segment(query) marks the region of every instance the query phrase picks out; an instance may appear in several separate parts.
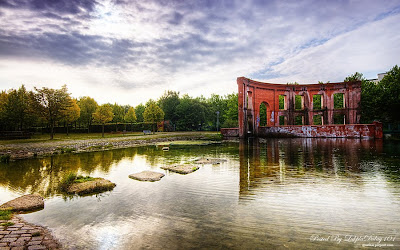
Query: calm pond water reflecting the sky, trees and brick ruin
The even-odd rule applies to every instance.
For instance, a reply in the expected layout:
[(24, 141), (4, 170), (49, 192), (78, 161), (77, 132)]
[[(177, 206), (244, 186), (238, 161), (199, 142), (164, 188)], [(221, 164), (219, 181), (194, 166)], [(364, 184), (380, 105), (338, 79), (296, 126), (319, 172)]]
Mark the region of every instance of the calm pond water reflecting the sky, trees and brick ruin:
[[(0, 203), (40, 193), (25, 214), (72, 249), (400, 248), (400, 144), (270, 139), (58, 155), (0, 165)], [(160, 167), (223, 158), (188, 175)], [(142, 170), (159, 182), (128, 178)], [(65, 197), (67, 172), (104, 177), (113, 191)]]

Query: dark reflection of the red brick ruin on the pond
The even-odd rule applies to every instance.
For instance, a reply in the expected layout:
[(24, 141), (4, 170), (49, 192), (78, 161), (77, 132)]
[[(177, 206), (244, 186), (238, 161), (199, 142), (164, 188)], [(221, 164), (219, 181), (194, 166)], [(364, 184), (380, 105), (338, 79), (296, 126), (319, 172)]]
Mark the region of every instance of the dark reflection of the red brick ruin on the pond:
[[(307, 179), (315, 175), (324, 178), (349, 176), (351, 181), (357, 182), (362, 172), (384, 171), (393, 166), (386, 163), (382, 154), (382, 140), (242, 140), (239, 143), (240, 195), (251, 194), (260, 184), (283, 184), (287, 178), (293, 181), (292, 178)], [(389, 177), (398, 179), (394, 173), (386, 172)]]

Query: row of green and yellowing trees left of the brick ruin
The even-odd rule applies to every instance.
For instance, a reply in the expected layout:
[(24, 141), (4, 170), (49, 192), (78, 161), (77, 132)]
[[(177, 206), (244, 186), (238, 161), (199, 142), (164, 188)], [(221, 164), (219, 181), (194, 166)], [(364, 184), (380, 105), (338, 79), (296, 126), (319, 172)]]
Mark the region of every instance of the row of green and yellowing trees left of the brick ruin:
[[(61, 89), (34, 88), (28, 91), (22, 85), (0, 93), (0, 131), (32, 130), (48, 128), (53, 138), (55, 127), (65, 127), (66, 133), (73, 126), (91, 132), (94, 125), (121, 124), (128, 128), (143, 128), (146, 123), (156, 129), (157, 122), (165, 122), (169, 131), (216, 130), (217, 127), (236, 127), (238, 120), (238, 96), (211, 95), (210, 98), (166, 91), (158, 100), (149, 100), (136, 107), (130, 105), (99, 105), (93, 98), (72, 98), (67, 87)], [(218, 123), (218, 124), (217, 124)]]

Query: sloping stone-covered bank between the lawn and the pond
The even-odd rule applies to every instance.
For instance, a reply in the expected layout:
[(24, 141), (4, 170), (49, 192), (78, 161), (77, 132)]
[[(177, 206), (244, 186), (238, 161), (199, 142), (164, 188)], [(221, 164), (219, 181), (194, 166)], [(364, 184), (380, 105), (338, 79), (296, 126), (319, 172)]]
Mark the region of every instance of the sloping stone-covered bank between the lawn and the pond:
[(119, 148), (154, 145), (160, 142), (178, 140), (209, 140), (212, 133), (178, 133), (171, 132), (162, 135), (116, 137), (87, 140), (46, 141), (32, 143), (0, 144), (0, 155), (9, 155), (11, 160), (46, 157), (62, 153), (84, 153)]

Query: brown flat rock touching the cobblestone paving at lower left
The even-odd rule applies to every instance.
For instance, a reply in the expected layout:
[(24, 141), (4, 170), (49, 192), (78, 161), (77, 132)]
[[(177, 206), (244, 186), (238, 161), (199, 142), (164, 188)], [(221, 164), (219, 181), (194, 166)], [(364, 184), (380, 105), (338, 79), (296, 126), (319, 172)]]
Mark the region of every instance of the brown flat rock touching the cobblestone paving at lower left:
[(33, 211), (44, 208), (44, 199), (38, 194), (28, 194), (4, 203), (0, 209), (13, 211)]

